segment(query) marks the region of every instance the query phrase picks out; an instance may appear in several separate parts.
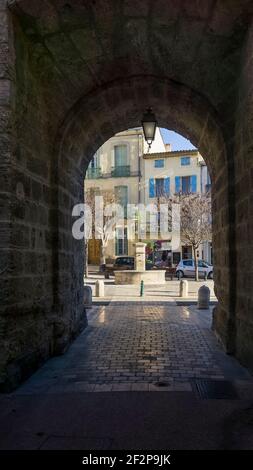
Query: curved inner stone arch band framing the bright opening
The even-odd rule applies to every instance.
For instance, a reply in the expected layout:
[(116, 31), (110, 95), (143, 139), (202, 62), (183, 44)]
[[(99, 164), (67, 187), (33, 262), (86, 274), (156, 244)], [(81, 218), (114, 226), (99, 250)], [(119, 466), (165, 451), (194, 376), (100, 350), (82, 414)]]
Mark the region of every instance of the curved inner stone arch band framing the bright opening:
[[(116, 133), (138, 127), (147, 103), (155, 110), (160, 128), (169, 128), (184, 135), (202, 155), (205, 155), (212, 179), (212, 245), (215, 294), (219, 301), (215, 309), (214, 325), (225, 347), (232, 349), (233, 328), (229, 334), (227, 331), (231, 319), (229, 264), (231, 227), (222, 222), (222, 217), (228, 217), (229, 212), (227, 157), (222, 127), (210, 103), (203, 97), (182, 85), (152, 76), (146, 77), (145, 87), (142, 77), (134, 77), (132, 80), (110, 83), (107, 87), (79, 101), (59, 130), (58, 211), (67, 215), (66, 208), (61, 202), (66, 192), (72, 207), (83, 201), (83, 176), (94, 154)], [(62, 217), (58, 222), (58, 236), (61, 232), (64, 233), (64, 237), (68, 239), (69, 250), (74, 256), (71, 269), (68, 267), (66, 270), (62, 263), (60, 247), (57, 251), (59, 272), (64, 279), (66, 277), (69, 279), (71, 286), (66, 292), (59, 279), (57, 301), (64, 315), (69, 317), (71, 311), (69, 328), (75, 330), (75, 325), (79, 325), (80, 317), (83, 315), (83, 246), (72, 238), (71, 218)]]

